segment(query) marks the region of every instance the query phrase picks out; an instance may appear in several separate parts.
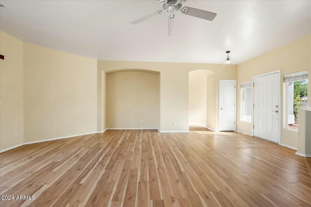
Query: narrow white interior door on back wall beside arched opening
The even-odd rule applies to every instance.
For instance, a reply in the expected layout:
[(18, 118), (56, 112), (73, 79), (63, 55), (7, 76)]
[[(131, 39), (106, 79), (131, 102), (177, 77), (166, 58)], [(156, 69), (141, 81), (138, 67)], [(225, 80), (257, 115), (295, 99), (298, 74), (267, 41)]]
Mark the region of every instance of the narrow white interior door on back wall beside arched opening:
[(236, 80), (219, 80), (219, 131), (235, 131)]

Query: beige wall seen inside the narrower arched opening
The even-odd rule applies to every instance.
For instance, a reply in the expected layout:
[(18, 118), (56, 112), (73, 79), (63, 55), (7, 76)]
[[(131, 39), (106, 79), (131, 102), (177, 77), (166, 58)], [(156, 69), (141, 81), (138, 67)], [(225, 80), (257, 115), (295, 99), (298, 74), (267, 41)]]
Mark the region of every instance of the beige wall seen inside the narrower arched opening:
[(207, 122), (207, 70), (195, 70), (189, 73), (189, 123)]

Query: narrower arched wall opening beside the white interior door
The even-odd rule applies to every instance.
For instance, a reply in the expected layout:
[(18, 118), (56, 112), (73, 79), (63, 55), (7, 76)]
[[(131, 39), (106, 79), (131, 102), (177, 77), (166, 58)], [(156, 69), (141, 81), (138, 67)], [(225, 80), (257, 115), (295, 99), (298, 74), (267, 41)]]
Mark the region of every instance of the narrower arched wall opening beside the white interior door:
[[(194, 70), (189, 73), (189, 125), (207, 127), (207, 118), (212, 99), (215, 100), (215, 87), (210, 87), (208, 77), (214, 72), (208, 70)], [(210, 80), (209, 80), (210, 81)], [(208, 87), (209, 85), (209, 87)], [(208, 96), (208, 100), (207, 100)]]

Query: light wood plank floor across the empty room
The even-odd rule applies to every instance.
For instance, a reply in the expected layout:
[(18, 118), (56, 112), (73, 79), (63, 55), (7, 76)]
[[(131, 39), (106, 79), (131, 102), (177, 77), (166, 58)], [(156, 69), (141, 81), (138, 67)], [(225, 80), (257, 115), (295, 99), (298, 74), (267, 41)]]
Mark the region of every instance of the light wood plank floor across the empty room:
[[(1, 207), (311, 207), (295, 151), (236, 132), (107, 130), (0, 154)], [(306, 159), (307, 160), (307, 159)]]

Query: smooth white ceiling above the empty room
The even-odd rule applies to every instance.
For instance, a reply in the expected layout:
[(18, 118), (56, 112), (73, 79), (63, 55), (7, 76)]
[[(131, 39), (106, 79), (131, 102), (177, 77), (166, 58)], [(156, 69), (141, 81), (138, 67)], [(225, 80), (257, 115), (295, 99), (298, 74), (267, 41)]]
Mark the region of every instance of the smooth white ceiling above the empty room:
[(161, 10), (157, 0), (0, 0), (0, 30), (25, 42), (98, 60), (235, 64), (311, 33), (311, 1), (188, 0), (183, 6), (217, 13), (207, 21), (176, 12), (137, 25)]

